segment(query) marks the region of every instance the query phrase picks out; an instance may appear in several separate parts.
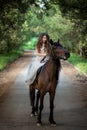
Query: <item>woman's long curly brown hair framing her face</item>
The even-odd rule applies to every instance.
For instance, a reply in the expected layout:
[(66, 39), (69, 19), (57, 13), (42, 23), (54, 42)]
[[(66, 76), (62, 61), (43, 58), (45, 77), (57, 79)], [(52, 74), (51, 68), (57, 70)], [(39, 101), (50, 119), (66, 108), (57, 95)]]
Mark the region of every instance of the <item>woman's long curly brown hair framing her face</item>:
[(51, 45), (50, 45), (50, 37), (47, 33), (40, 34), (40, 36), (38, 38), (37, 45), (36, 45), (37, 51), (38, 51), (38, 53), (40, 53), (40, 49), (41, 49), (42, 44), (43, 44), (43, 36), (46, 36), (46, 38), (47, 38), (47, 41), (45, 42), (45, 51), (46, 51), (46, 53), (49, 53)]

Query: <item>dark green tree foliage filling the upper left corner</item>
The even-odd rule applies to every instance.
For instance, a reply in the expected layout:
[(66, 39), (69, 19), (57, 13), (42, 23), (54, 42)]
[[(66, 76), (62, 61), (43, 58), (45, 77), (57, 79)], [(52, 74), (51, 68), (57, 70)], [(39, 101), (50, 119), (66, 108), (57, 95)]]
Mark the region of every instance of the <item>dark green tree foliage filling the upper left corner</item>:
[(0, 54), (18, 49), (27, 39), (25, 14), (30, 1), (0, 0)]

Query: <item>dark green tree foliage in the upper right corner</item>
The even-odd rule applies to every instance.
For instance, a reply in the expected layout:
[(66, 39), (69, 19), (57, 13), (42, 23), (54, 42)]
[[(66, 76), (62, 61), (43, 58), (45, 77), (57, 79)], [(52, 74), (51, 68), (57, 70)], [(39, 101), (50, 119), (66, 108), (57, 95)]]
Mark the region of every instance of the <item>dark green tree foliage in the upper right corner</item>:
[(73, 34), (76, 35), (74, 39), (78, 44), (77, 52), (87, 58), (87, 1), (59, 0), (58, 4), (62, 15), (74, 23)]

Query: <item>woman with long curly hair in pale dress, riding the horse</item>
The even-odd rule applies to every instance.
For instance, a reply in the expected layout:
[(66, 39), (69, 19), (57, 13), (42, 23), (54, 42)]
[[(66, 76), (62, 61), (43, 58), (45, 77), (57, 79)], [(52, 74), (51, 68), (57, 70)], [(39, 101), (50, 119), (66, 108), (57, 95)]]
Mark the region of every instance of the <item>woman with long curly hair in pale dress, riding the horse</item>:
[(44, 56), (46, 56), (47, 54), (50, 53), (51, 45), (50, 45), (49, 40), (50, 40), (49, 35), (46, 33), (42, 33), (39, 36), (39, 39), (38, 39), (38, 42), (36, 45), (36, 51), (35, 51), (36, 58), (35, 58), (35, 61), (33, 61), (30, 64), (29, 70), (28, 70), (28, 76), (27, 76), (27, 80), (26, 80), (28, 85), (33, 83), (33, 81), (36, 78), (38, 68), (43, 66), (46, 62), (45, 61), (45, 62), (41, 63), (40, 61), (43, 59)]

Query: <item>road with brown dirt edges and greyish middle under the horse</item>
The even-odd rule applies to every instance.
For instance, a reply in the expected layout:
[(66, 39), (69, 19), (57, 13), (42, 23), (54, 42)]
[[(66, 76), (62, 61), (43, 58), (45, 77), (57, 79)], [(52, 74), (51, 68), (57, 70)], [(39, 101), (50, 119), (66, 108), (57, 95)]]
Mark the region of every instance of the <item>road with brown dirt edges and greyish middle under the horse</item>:
[(4, 77), (2, 75), (1, 78), (8, 78), (7, 85), (4, 84), (2, 89), (3, 96), (0, 97), (0, 130), (87, 130), (87, 82), (79, 77), (78, 71), (68, 62), (62, 62), (56, 90), (54, 118), (57, 126), (51, 127), (48, 122), (48, 94), (44, 100), (43, 126), (36, 126), (36, 117), (30, 117), (29, 88), (25, 83), (31, 58), (31, 52), (24, 54), (2, 72)]

